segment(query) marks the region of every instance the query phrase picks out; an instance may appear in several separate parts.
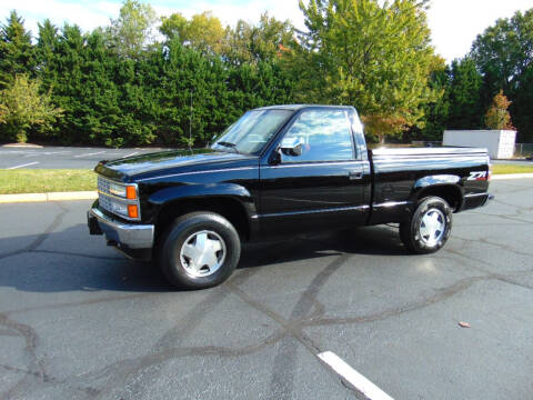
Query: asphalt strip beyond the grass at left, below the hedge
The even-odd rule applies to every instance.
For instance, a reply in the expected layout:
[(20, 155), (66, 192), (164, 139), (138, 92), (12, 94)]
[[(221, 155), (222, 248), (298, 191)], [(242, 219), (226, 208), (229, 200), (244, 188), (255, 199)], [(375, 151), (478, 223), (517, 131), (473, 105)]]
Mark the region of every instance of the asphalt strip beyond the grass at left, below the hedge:
[(94, 168), (100, 160), (113, 160), (121, 157), (145, 154), (164, 149), (109, 149), (44, 147), (17, 148), (0, 147), (0, 169), (77, 169)]

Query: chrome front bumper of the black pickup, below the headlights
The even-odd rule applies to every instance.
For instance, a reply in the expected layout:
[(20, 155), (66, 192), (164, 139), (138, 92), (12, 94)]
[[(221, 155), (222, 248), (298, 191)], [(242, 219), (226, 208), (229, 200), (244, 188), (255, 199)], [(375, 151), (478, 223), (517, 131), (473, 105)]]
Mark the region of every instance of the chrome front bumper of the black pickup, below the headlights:
[(87, 224), (91, 234), (105, 234), (105, 238), (129, 249), (149, 249), (153, 246), (153, 224), (134, 224), (115, 221), (99, 209), (87, 211)]

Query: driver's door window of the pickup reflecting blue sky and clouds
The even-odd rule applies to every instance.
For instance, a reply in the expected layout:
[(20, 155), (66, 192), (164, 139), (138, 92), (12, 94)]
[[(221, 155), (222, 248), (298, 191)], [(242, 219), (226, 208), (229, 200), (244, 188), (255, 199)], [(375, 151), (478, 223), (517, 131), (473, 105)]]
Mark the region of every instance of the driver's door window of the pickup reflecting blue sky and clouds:
[(300, 154), (281, 152), (281, 162), (353, 160), (352, 132), (343, 110), (310, 110), (300, 114), (283, 138), (299, 143)]

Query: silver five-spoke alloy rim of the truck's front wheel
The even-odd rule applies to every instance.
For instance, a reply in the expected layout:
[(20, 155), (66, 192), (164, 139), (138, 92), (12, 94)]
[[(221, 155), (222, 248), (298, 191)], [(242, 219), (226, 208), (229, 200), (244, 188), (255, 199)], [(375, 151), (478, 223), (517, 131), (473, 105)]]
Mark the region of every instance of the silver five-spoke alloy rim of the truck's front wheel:
[(225, 242), (221, 236), (211, 230), (202, 230), (192, 233), (183, 242), (180, 262), (190, 276), (209, 277), (224, 263), (225, 253)]

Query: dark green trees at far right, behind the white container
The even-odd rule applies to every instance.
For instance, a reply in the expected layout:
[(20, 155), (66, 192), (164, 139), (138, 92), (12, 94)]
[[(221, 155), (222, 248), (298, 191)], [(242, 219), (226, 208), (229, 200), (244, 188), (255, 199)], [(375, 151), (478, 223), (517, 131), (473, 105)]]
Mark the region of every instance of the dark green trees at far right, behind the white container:
[(444, 129), (486, 129), (484, 116), (502, 90), (517, 142), (533, 142), (533, 9), (495, 21), (469, 54), (436, 69), (430, 84), (443, 96), (426, 104), (425, 128), (411, 137), (441, 140)]

